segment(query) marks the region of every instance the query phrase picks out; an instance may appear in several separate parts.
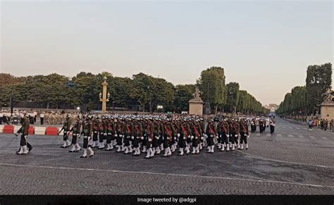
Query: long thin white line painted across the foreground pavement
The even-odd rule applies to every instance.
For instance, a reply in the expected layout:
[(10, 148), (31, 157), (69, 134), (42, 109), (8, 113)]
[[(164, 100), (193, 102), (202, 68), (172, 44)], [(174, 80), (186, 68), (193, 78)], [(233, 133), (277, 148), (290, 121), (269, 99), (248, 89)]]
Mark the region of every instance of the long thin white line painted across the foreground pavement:
[[(242, 151), (240, 151), (242, 152)], [(242, 152), (243, 153), (243, 152)], [(299, 182), (282, 182), (276, 180), (251, 180), (245, 178), (226, 178), (226, 177), (214, 177), (214, 176), (201, 176), (201, 175), (183, 175), (183, 174), (173, 174), (173, 173), (151, 173), (151, 172), (136, 172), (136, 171), (126, 171), (126, 170), (104, 170), (104, 169), (93, 169), (93, 168), (71, 168), (71, 167), (55, 167), (55, 166), (33, 166), (33, 165), (22, 165), (22, 164), (12, 164), (12, 163), (0, 163), (2, 166), (16, 166), (16, 167), (31, 167), (31, 168), (52, 168), (52, 169), (67, 169), (67, 170), (88, 170), (88, 171), (104, 171), (111, 173), (135, 173), (135, 174), (146, 174), (146, 175), (171, 175), (178, 177), (193, 177), (193, 178), (211, 178), (211, 179), (220, 179), (220, 180), (240, 180), (240, 181), (248, 181), (248, 182), (273, 182), (279, 184), (287, 184), (287, 185), (301, 185), (301, 186), (311, 186), (311, 187), (328, 187), (334, 188), (334, 186), (327, 185), (313, 185), (313, 184), (304, 184)]]

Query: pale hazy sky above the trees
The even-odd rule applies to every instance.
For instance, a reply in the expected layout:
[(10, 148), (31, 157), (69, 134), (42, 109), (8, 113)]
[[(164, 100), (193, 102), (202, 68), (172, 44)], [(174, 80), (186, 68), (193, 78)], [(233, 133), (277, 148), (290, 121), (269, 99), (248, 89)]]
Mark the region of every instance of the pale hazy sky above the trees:
[[(333, 63), (333, 1), (1, 1), (0, 73), (146, 73), (194, 84), (221, 66), (262, 104)], [(334, 78), (333, 78), (334, 80)]]

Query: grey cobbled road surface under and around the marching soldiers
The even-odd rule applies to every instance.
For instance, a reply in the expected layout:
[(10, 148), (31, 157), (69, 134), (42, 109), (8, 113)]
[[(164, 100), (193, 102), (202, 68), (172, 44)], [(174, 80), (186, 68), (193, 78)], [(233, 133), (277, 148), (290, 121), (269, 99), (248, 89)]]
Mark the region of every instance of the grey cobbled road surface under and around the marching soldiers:
[(33, 151), (0, 135), (0, 194), (334, 194), (334, 133), (277, 119), (245, 151), (154, 159), (96, 151), (68, 153), (55, 136), (34, 135)]

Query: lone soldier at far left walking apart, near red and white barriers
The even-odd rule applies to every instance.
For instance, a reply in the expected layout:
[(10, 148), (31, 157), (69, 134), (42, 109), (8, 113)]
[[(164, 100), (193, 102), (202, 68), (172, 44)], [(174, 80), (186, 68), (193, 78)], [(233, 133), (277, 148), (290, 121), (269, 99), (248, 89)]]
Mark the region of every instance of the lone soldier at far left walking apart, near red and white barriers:
[(16, 154), (28, 154), (29, 151), (32, 150), (32, 146), (31, 144), (29, 144), (27, 142), (27, 135), (29, 134), (29, 118), (27, 116), (27, 114), (25, 114), (24, 116), (24, 122), (22, 127), (20, 128), (20, 130), (18, 130), (18, 132), (16, 132), (16, 136), (18, 136), (21, 133), (21, 139), (20, 139), (20, 149), (19, 151), (16, 152)]

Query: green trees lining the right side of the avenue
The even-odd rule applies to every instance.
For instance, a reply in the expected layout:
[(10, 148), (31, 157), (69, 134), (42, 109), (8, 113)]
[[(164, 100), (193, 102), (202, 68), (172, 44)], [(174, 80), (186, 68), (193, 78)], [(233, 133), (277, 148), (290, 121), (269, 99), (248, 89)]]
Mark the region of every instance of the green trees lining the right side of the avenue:
[(323, 102), (323, 94), (331, 89), (331, 84), (331, 63), (308, 66), (306, 85), (294, 87), (285, 94), (277, 113), (283, 116), (316, 115)]

